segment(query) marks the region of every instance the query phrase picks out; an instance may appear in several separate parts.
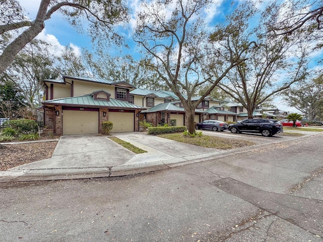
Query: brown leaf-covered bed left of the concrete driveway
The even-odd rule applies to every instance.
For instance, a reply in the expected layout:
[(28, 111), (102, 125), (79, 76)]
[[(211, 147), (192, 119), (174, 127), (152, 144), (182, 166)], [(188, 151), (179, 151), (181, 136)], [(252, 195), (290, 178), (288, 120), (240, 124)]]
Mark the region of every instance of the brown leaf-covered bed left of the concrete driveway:
[(0, 170), (50, 158), (57, 141), (10, 144), (0, 147)]

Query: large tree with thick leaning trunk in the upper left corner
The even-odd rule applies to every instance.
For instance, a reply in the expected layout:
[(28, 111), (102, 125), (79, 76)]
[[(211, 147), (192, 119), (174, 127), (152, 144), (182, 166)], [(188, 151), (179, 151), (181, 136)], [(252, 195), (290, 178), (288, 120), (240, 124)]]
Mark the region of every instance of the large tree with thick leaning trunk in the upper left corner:
[[(20, 50), (34, 39), (45, 27), (46, 20), (60, 12), (72, 25), (82, 27), (87, 20), (87, 32), (92, 40), (100, 34), (102, 39), (120, 40), (120, 36), (113, 27), (127, 20), (128, 9), (123, 0), (41, 0), (37, 16), (34, 20), (24, 17), (24, 13), (17, 0), (0, 0), (0, 44), (12, 37), (12, 31), (20, 34), (4, 47), (0, 55), (0, 73), (3, 73), (13, 62)], [(11, 36), (10, 36), (11, 35)]]

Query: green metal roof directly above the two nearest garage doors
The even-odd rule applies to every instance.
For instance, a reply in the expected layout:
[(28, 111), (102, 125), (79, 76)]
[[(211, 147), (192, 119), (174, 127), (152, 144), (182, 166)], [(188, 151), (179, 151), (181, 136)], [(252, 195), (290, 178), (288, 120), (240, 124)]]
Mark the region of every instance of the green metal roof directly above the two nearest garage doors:
[(80, 96), (80, 97), (67, 97), (60, 99), (47, 100), (42, 102), (44, 105), (55, 104), (63, 106), (91, 106), (91, 107), (119, 107), (128, 109), (145, 109), (144, 107), (110, 98), (109, 101), (94, 100), (91, 94)]

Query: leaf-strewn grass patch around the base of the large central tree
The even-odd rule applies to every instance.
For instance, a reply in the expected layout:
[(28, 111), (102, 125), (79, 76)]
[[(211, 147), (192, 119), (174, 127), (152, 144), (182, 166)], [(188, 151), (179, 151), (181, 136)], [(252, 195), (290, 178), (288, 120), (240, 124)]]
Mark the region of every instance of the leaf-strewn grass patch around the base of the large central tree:
[(235, 140), (235, 139), (228, 139), (228, 138), (221, 138), (215, 136), (207, 136), (203, 135), (202, 137), (190, 137), (184, 136), (182, 133), (176, 134), (163, 134), (158, 135), (158, 137), (175, 140), (178, 142), (196, 145), (205, 148), (214, 148), (219, 150), (230, 150), (250, 145), (255, 145), (256, 143), (247, 141), (247, 140)]

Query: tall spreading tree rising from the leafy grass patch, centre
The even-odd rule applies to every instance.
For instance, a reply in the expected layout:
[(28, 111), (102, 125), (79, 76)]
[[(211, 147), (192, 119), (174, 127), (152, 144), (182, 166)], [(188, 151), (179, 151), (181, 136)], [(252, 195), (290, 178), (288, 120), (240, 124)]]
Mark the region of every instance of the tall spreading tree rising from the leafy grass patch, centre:
[[(243, 52), (252, 45), (244, 43), (239, 51), (231, 48), (252, 6), (238, 8), (242, 18), (226, 25), (227, 31), (218, 31), (217, 39), (209, 38), (211, 32), (202, 19), (205, 9), (214, 8), (211, 0), (148, 1), (141, 7), (134, 39), (143, 48), (149, 67), (181, 100), (188, 131), (194, 133), (195, 108), (243, 61)], [(210, 85), (199, 100), (192, 101), (204, 84)]]

